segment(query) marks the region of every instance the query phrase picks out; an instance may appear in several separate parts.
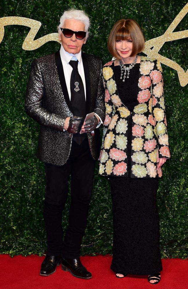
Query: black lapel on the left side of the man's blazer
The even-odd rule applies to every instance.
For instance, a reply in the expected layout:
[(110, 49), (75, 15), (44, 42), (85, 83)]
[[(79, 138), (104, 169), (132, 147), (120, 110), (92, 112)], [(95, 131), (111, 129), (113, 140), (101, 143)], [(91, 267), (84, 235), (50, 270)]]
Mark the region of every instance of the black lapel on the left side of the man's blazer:
[(68, 90), (67, 90), (66, 81), (65, 81), (65, 78), (64, 78), (64, 71), (63, 71), (63, 65), (62, 65), (62, 61), (61, 61), (60, 51), (57, 51), (55, 53), (55, 60), (56, 60), (56, 66), (57, 66), (59, 81), (60, 81), (60, 84), (61, 84), (61, 89), (62, 89), (62, 92), (63, 92), (64, 99), (65, 99), (70, 111), (73, 114), (73, 109), (72, 109), (71, 102), (70, 102), (70, 99), (69, 99), (69, 94), (68, 94)]

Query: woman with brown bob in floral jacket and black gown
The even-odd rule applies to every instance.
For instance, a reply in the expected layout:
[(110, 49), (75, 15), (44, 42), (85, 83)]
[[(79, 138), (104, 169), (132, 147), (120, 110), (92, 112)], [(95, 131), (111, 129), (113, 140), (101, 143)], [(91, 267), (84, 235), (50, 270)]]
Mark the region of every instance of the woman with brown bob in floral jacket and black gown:
[(103, 67), (106, 118), (99, 174), (110, 181), (113, 203), (113, 260), (117, 278), (162, 270), (156, 206), (161, 166), (170, 158), (160, 62), (139, 56), (145, 45), (138, 23), (121, 19)]

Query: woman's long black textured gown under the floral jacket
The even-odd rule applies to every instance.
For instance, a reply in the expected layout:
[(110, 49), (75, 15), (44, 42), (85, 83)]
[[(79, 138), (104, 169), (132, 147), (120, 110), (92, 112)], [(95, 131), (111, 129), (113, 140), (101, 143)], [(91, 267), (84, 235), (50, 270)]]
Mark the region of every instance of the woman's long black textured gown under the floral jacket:
[[(129, 64), (128, 64), (129, 66)], [(137, 105), (140, 64), (120, 79), (120, 66), (113, 66), (118, 94), (132, 112)], [(150, 275), (162, 270), (159, 220), (156, 206), (158, 179), (131, 178), (132, 114), (128, 120), (128, 177), (110, 177), (113, 203), (113, 260), (116, 273)]]

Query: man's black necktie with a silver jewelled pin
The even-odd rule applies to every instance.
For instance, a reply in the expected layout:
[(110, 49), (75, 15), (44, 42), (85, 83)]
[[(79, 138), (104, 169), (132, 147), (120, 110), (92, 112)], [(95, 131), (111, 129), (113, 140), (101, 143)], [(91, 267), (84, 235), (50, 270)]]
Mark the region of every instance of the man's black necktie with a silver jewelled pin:
[[(82, 123), (84, 123), (84, 118), (86, 116), (86, 100), (84, 93), (84, 85), (82, 78), (78, 72), (78, 60), (71, 60), (69, 64), (72, 66), (73, 70), (71, 73), (70, 88), (71, 88), (71, 106), (75, 116), (82, 116)], [(79, 130), (80, 132), (80, 130)], [(78, 144), (81, 144), (86, 137), (86, 134), (73, 134), (73, 140)]]

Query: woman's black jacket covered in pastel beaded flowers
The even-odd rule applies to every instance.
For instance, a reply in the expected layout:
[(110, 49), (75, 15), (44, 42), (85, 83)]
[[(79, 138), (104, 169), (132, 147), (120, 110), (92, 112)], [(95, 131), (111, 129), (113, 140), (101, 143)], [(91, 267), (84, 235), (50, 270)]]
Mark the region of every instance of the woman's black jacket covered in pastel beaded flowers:
[(131, 177), (161, 177), (159, 158), (170, 158), (160, 62), (141, 56), (139, 93), (133, 112), (121, 102), (112, 69), (114, 61), (103, 67), (106, 118), (100, 153), (99, 174), (127, 176), (127, 126), (132, 113)]

